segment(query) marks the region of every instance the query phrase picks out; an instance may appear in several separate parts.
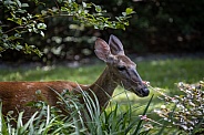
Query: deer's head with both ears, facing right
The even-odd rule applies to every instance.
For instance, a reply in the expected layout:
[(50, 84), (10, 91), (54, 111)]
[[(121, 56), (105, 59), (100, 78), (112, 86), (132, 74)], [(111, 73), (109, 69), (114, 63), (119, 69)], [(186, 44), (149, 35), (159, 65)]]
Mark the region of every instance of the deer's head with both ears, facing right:
[(149, 95), (149, 89), (140, 77), (136, 64), (124, 54), (123, 45), (116, 37), (111, 35), (109, 44), (98, 39), (94, 52), (106, 63), (115, 83), (141, 97)]

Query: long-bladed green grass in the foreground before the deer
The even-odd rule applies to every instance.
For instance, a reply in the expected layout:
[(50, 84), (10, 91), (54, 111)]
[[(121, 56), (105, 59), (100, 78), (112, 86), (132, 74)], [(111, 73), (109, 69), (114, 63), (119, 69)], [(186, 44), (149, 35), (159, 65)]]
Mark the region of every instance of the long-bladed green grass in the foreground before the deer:
[[(125, 112), (121, 111), (118, 104), (112, 106), (111, 111), (101, 111), (94, 93), (92, 93), (93, 96), (90, 96), (86, 92), (82, 92), (85, 104), (80, 104), (78, 95), (69, 91), (57, 94), (59, 95), (58, 104), (64, 106), (63, 111), (68, 111), (68, 115), (61, 114), (62, 108), (50, 106), (44, 102), (33, 103), (41, 104), (41, 111), (35, 112), (26, 123), (23, 123), (23, 112), (20, 112), (17, 118), (2, 116), (0, 113), (0, 134), (137, 135), (149, 132), (143, 126), (143, 120), (140, 116), (133, 118), (132, 111), (136, 108), (132, 108), (131, 105)], [(146, 115), (151, 101), (152, 98), (142, 115)], [(0, 111), (2, 111), (2, 102)], [(12, 125), (13, 120), (16, 126)]]

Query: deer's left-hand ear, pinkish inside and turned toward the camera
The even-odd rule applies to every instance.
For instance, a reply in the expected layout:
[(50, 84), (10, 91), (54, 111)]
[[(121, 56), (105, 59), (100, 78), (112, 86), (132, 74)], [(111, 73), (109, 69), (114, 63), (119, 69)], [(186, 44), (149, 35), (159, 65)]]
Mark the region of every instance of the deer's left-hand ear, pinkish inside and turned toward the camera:
[(96, 56), (99, 59), (103, 60), (104, 62), (108, 61), (108, 58), (111, 54), (109, 44), (100, 38), (98, 38), (95, 41), (94, 52), (95, 52)]

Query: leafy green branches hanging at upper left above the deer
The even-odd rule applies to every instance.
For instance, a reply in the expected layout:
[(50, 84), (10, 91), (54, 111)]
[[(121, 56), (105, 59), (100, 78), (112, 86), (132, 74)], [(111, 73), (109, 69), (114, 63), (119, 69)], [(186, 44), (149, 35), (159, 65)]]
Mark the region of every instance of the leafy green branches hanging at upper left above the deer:
[(28, 10), (31, 2), (21, 3), (20, 0), (2, 1), (3, 14), (8, 15), (7, 18), (2, 15), (2, 20), (9, 23), (13, 22), (14, 24), (11, 27), (0, 21), (0, 55), (3, 51), (12, 49), (23, 51), (27, 54), (34, 52), (41, 56), (42, 52), (34, 44), (22, 43), (23, 34), (37, 33), (44, 37), (43, 31), (47, 30), (44, 20), (48, 18), (71, 17), (74, 21), (83, 23), (85, 27), (94, 27), (94, 29), (103, 30), (111, 28), (125, 30), (125, 27), (129, 25), (128, 19), (134, 13), (131, 8), (126, 8), (121, 17), (115, 17), (115, 20), (111, 20), (110, 17), (105, 17), (106, 11), (94, 3), (78, 3), (75, 0), (55, 0), (54, 7), (48, 7), (40, 0), (32, 0), (32, 2), (34, 2), (37, 9), (39, 7), (43, 7), (43, 9), (31, 13)]

